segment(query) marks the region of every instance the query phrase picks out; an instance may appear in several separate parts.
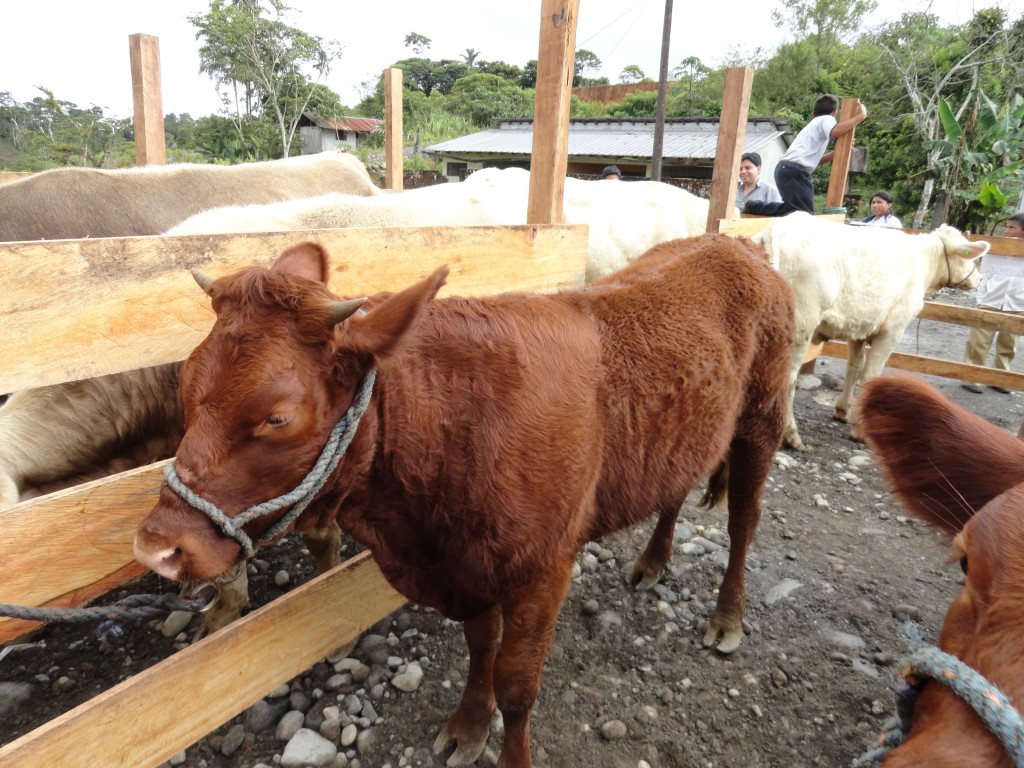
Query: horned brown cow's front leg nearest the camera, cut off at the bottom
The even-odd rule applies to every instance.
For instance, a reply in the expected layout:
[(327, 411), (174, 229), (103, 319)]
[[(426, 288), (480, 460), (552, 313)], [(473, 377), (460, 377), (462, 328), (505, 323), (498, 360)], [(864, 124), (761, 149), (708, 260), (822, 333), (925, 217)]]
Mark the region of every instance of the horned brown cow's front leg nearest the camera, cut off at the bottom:
[(504, 633), (495, 665), (495, 695), (505, 722), (498, 768), (529, 768), (529, 722), (541, 689), (555, 622), (569, 589), (574, 553), (553, 563), (551, 580), (527, 585), (521, 601), (505, 606)]

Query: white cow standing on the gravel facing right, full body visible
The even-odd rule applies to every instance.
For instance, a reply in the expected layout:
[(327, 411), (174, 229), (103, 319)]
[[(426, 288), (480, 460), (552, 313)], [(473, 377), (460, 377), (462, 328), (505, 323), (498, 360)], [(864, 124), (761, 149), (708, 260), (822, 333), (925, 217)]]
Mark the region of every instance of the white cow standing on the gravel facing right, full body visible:
[(790, 414), (784, 440), (804, 450), (793, 414), (797, 374), (811, 342), (846, 339), (848, 359), (834, 418), (854, 424), (854, 387), (882, 373), (903, 331), (944, 286), (972, 289), (976, 259), (987, 243), (972, 243), (943, 224), (924, 234), (874, 226), (848, 226), (792, 213), (774, 219), (752, 240), (760, 243), (793, 287), (797, 334), (793, 346)]

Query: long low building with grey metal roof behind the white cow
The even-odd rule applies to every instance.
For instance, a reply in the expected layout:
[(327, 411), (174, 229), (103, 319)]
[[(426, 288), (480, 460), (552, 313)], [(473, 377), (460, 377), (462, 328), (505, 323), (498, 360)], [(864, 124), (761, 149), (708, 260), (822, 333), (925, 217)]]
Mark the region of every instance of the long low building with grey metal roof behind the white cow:
[[(662, 142), (662, 180), (706, 197), (711, 188), (718, 118), (669, 118)], [(761, 155), (762, 173), (772, 178), (775, 164), (794, 139), (781, 118), (751, 118), (743, 152)], [(459, 181), (480, 168), (529, 168), (534, 121), (502, 120), (496, 127), (433, 144), (425, 153), (441, 161), (441, 173)], [(654, 146), (653, 118), (586, 118), (569, 121), (568, 175), (599, 178), (617, 165), (624, 179), (649, 178)]]

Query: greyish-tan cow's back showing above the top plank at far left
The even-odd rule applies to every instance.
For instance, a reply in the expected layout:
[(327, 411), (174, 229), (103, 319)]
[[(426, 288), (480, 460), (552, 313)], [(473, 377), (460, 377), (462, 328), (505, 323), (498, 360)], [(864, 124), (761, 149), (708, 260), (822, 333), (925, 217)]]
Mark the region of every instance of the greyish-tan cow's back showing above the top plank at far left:
[(331, 193), (382, 190), (358, 158), (342, 153), (232, 166), (54, 168), (0, 184), (0, 242), (160, 234), (211, 208)]

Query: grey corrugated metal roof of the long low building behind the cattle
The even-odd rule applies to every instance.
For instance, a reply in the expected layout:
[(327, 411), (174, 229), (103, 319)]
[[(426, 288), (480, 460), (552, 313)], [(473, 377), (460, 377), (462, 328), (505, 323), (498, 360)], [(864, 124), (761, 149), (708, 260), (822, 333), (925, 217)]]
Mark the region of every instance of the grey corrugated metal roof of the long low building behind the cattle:
[[(788, 133), (780, 121), (755, 119), (748, 123), (743, 152), (758, 152)], [(714, 159), (718, 144), (718, 121), (666, 121), (662, 157), (667, 159)], [(522, 155), (534, 146), (531, 121), (509, 120), (498, 128), (471, 133), (426, 147), (426, 152), (460, 155)], [(568, 154), (587, 158), (649, 158), (654, 148), (654, 121), (570, 121)]]

